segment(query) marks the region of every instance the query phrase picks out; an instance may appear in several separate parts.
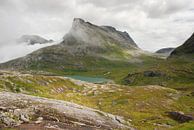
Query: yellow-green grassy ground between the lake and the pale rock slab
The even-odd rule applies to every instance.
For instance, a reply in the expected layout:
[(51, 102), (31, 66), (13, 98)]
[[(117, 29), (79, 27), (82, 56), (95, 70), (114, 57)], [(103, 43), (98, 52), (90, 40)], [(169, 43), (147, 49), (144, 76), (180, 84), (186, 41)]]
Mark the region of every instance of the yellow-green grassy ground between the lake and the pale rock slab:
[(78, 103), (120, 115), (139, 129), (193, 128), (165, 113), (192, 113), (194, 96), (157, 85), (122, 86), (91, 84), (58, 76), (1, 72), (0, 91), (12, 91)]

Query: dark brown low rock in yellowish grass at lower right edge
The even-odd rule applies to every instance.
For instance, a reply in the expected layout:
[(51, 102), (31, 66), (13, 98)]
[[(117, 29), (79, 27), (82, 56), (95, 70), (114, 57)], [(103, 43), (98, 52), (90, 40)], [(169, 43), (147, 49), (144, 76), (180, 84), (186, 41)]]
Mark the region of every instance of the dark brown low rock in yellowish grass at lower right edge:
[(184, 123), (184, 122), (189, 122), (194, 120), (194, 117), (191, 115), (185, 115), (182, 112), (167, 112), (169, 117), (171, 117), (172, 119), (180, 122), (180, 123)]

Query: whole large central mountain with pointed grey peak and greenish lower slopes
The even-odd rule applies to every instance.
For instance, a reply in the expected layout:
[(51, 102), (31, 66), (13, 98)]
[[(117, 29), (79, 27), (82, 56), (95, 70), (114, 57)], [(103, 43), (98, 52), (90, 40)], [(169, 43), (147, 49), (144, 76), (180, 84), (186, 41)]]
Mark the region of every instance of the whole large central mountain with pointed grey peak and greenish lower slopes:
[[(45, 40), (43, 40), (45, 41)], [(46, 41), (45, 41), (46, 42)], [(0, 65), (12, 69), (86, 69), (115, 61), (136, 62), (143, 51), (127, 32), (75, 18), (60, 44)]]

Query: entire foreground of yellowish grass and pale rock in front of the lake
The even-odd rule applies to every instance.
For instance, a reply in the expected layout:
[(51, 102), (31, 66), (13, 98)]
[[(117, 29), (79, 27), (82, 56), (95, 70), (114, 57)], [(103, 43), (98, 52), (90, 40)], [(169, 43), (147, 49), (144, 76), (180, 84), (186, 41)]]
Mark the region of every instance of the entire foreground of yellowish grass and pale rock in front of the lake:
[(0, 71), (0, 130), (192, 129), (193, 106), (193, 91)]

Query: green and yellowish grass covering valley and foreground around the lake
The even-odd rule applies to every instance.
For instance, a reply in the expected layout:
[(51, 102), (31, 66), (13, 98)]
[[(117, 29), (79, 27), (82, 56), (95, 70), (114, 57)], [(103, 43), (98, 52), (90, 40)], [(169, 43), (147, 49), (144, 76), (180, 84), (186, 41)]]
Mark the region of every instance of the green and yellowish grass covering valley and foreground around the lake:
[[(194, 111), (194, 62), (188, 59), (158, 59), (141, 56), (139, 63), (125, 60), (109, 61), (103, 58), (84, 57), (79, 59), (82, 65), (63, 66), (64, 63), (33, 63), (29, 71), (50, 72), (52, 75), (79, 75), (102, 77), (114, 80), (117, 84), (125, 84), (128, 74), (132, 83), (127, 86), (108, 86), (108, 89), (77, 85), (69, 80), (53, 76), (8, 76), (0, 79), (0, 90), (22, 92), (35, 96), (75, 102), (96, 108), (115, 115), (131, 119), (137, 129), (168, 129), (162, 125), (170, 125), (172, 129), (193, 129), (191, 123), (179, 124), (170, 119), (166, 111)], [(76, 62), (76, 59), (73, 59)], [(37, 67), (39, 66), (39, 67)], [(159, 71), (164, 75), (146, 77), (144, 71)], [(138, 87), (160, 85), (166, 89)], [(169, 89), (171, 88), (171, 89)], [(99, 113), (100, 114), (100, 113)], [(154, 125), (155, 124), (155, 125)], [(161, 125), (162, 124), (162, 125)]]

